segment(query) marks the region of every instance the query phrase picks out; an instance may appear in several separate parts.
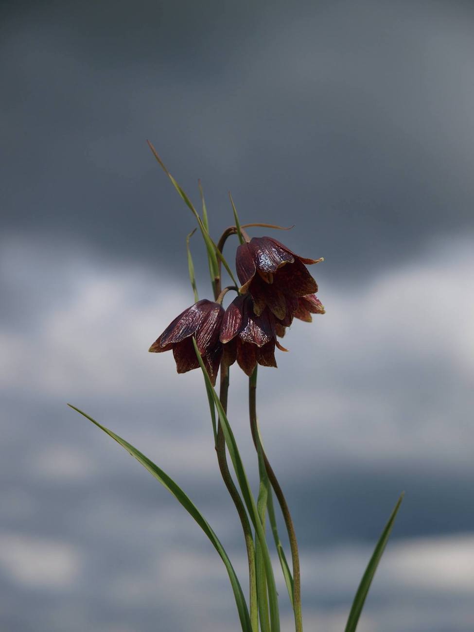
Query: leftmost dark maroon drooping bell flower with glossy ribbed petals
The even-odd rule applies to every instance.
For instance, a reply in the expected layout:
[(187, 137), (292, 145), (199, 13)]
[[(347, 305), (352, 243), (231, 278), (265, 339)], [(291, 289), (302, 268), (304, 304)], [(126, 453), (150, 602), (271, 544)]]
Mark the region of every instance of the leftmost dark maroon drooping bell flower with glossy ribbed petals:
[(199, 367), (193, 346), (193, 336), (213, 384), (222, 358), (219, 340), (224, 308), (219, 303), (206, 299), (198, 301), (180, 313), (166, 327), (161, 336), (150, 346), (149, 351), (161, 353), (173, 349), (176, 370), (186, 373)]

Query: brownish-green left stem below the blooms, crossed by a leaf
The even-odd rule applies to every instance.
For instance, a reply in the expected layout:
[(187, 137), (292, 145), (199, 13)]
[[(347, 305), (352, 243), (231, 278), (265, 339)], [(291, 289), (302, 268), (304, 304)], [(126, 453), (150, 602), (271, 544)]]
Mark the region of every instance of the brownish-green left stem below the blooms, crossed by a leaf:
[[(221, 363), (221, 388), (219, 391), (219, 399), (222, 404), (222, 408), (227, 412), (228, 403), (228, 391), (229, 391), (229, 367), (222, 362)], [(242, 530), (245, 538), (245, 547), (247, 550), (248, 558), (248, 580), (250, 586), (250, 624), (252, 625), (252, 632), (258, 632), (258, 607), (257, 607), (257, 580), (255, 569), (255, 546), (253, 544), (252, 528), (248, 520), (245, 506), (242, 502), (238, 489), (234, 485), (226, 456), (226, 439), (224, 432), (222, 431), (222, 425), (219, 421), (217, 427), (217, 441), (216, 441), (216, 453), (217, 462), (219, 463), (219, 470), (221, 470), (221, 476), (228, 489), (231, 499), (234, 502), (237, 509), (238, 516), (242, 525)]]

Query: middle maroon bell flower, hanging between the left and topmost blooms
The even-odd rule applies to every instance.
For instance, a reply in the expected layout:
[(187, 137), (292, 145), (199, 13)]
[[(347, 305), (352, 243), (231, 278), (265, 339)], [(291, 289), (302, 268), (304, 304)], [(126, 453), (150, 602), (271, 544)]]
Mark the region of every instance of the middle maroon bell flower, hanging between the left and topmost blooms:
[(258, 364), (276, 367), (275, 345), (286, 351), (276, 340), (275, 318), (269, 310), (256, 315), (250, 295), (237, 296), (226, 310), (221, 326), (221, 343), (227, 365), (236, 360), (247, 375)]

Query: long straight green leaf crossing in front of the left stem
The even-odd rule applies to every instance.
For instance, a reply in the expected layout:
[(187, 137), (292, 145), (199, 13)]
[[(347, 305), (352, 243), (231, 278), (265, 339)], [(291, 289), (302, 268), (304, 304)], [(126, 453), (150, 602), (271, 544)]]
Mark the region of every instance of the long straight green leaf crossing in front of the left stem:
[(221, 422), (221, 425), (222, 425), (222, 432), (224, 432), (224, 437), (226, 439), (229, 455), (231, 457), (231, 461), (234, 466), (234, 470), (235, 470), (236, 477), (237, 477), (237, 480), (242, 492), (243, 499), (245, 501), (246, 507), (248, 509), (248, 513), (250, 515), (250, 520), (252, 520), (253, 528), (255, 528), (255, 532), (257, 533), (258, 540), (262, 547), (265, 574), (267, 575), (267, 584), (268, 584), (268, 592), (269, 592), (271, 632), (279, 632), (280, 617), (279, 617), (279, 611), (278, 611), (278, 595), (276, 591), (275, 578), (274, 578), (273, 569), (272, 569), (272, 562), (270, 560), (270, 554), (269, 554), (269, 550), (267, 546), (267, 541), (265, 540), (264, 529), (262, 528), (262, 523), (260, 522), (260, 517), (258, 516), (257, 504), (255, 503), (255, 499), (253, 498), (252, 489), (250, 489), (250, 484), (248, 482), (248, 478), (245, 473), (245, 468), (243, 466), (242, 459), (240, 457), (240, 453), (238, 451), (238, 447), (235, 441), (235, 437), (226, 415), (226, 411), (224, 411), (221, 401), (219, 400), (219, 396), (217, 395), (216, 391), (212, 387), (209, 374), (207, 373), (204, 362), (202, 361), (195, 338), (193, 338), (193, 344), (194, 344), (194, 349), (196, 352), (198, 362), (200, 364), (202, 373), (204, 375), (204, 379), (206, 380), (206, 384), (212, 389), (212, 395), (214, 396), (214, 403), (216, 404), (217, 413), (219, 415), (219, 421)]

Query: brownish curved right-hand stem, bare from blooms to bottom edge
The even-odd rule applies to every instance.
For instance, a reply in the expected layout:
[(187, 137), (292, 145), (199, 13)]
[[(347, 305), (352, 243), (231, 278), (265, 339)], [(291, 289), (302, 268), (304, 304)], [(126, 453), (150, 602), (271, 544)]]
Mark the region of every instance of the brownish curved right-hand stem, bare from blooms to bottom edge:
[(250, 415), (250, 429), (252, 431), (253, 444), (257, 450), (257, 454), (262, 455), (264, 461), (265, 470), (269, 481), (274, 489), (275, 495), (281, 507), (281, 513), (288, 531), (289, 547), (291, 549), (291, 561), (293, 562), (293, 611), (295, 613), (295, 630), (296, 632), (303, 632), (303, 621), (301, 617), (301, 579), (300, 579), (300, 556), (298, 554), (298, 542), (296, 540), (295, 526), (291, 514), (289, 513), (288, 504), (283, 494), (277, 477), (270, 466), (267, 455), (260, 443), (260, 437), (258, 435), (257, 426), (257, 368), (255, 368), (253, 374), (249, 379), (248, 388), (248, 409)]

